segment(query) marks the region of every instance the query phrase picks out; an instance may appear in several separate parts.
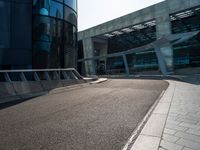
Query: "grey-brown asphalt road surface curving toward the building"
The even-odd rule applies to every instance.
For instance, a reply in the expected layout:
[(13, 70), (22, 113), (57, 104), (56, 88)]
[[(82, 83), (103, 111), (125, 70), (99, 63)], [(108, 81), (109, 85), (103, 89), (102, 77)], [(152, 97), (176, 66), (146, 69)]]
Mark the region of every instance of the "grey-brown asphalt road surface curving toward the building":
[(109, 79), (2, 107), (0, 149), (120, 150), (167, 87)]

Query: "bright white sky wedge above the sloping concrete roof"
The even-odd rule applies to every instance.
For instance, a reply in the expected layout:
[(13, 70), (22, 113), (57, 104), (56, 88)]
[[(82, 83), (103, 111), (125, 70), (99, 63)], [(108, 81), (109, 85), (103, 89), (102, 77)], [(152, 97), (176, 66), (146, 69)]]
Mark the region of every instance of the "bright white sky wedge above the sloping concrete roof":
[(82, 31), (163, 0), (78, 0), (78, 30)]

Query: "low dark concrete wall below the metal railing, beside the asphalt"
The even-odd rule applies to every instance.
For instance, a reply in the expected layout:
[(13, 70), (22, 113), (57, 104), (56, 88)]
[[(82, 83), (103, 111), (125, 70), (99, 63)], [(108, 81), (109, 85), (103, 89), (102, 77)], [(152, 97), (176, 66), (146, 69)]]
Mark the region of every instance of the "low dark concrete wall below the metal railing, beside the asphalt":
[(40, 96), (55, 88), (80, 83), (85, 83), (85, 80), (20, 81), (0, 83), (0, 104)]

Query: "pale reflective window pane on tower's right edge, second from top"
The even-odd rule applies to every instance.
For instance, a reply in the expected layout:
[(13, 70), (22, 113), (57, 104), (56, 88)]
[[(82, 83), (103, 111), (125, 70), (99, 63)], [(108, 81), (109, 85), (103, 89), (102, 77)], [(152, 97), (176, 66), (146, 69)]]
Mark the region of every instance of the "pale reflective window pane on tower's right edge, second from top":
[(64, 8), (64, 19), (74, 25), (77, 25), (77, 16), (76, 13), (71, 10), (69, 7), (65, 6)]

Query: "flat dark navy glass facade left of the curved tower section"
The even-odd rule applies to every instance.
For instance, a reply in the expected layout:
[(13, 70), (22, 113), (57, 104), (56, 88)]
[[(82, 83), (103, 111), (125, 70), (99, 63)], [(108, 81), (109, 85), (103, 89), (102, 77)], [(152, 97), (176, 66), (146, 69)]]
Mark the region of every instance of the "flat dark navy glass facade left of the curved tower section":
[(32, 2), (0, 0), (0, 69), (32, 67)]

